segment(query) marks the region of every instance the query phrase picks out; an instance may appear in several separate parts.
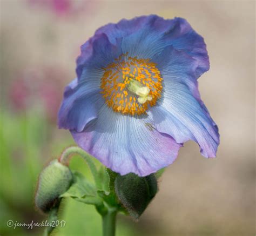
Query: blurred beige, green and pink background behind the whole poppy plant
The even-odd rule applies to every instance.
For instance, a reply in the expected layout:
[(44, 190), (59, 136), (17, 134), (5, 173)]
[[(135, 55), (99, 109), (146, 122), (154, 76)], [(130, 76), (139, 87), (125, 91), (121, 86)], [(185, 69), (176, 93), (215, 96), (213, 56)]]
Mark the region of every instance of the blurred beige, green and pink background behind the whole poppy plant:
[[(58, 130), (64, 86), (75, 74), (79, 46), (100, 26), (158, 14), (186, 18), (205, 38), (211, 69), (199, 78), (201, 97), (219, 126), (217, 158), (189, 141), (159, 181), (139, 222), (118, 217), (117, 235), (255, 235), (255, 2), (0, 0), (0, 235), (41, 235), (33, 205), (44, 165), (75, 144)], [(86, 175), (78, 157), (73, 169)], [(90, 176), (88, 176), (90, 178)], [(93, 206), (62, 205), (64, 228), (54, 235), (100, 235)]]

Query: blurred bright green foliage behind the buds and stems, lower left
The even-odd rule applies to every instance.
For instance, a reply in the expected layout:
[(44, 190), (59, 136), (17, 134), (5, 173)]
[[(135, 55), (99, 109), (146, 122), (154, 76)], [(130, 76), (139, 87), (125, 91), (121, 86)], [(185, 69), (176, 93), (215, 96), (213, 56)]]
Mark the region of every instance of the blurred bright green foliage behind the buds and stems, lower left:
[[(41, 114), (29, 112), (14, 114), (1, 113), (0, 156), (0, 233), (1, 235), (42, 235), (44, 228), (27, 230), (25, 227), (6, 227), (6, 222), (41, 222), (47, 216), (39, 213), (34, 206), (34, 195), (38, 174), (47, 161), (58, 157), (65, 146), (75, 145), (72, 138), (51, 140), (51, 129)], [(18, 132), (17, 132), (18, 131)], [(10, 140), (12, 142), (10, 143)], [(50, 153), (53, 153), (50, 154)], [(96, 163), (99, 162), (96, 160)], [(92, 180), (85, 161), (74, 156), (70, 168), (83, 173)], [(65, 227), (58, 227), (53, 235), (101, 235), (101, 217), (95, 207), (78, 203), (73, 199), (64, 200), (59, 210), (59, 220), (65, 220)], [(121, 217), (118, 220), (117, 235), (140, 235), (131, 227), (135, 223)]]

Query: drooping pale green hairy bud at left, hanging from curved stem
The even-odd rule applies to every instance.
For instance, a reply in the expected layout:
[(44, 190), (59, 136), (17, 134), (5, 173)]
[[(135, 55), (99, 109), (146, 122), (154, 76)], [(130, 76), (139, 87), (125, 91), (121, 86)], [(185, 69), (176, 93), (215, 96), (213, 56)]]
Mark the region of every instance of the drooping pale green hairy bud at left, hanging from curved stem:
[(60, 203), (59, 195), (66, 192), (72, 183), (72, 173), (57, 159), (52, 160), (41, 172), (38, 180), (35, 204), (45, 213)]

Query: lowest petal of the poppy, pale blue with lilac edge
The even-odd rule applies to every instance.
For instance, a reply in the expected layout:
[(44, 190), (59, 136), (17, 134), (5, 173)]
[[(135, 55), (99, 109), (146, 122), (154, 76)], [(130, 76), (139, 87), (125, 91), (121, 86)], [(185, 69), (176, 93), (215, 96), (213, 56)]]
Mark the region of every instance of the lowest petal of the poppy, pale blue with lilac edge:
[(111, 170), (147, 176), (173, 163), (182, 146), (152, 123), (149, 117), (121, 116), (103, 106), (83, 132), (71, 133), (82, 149)]

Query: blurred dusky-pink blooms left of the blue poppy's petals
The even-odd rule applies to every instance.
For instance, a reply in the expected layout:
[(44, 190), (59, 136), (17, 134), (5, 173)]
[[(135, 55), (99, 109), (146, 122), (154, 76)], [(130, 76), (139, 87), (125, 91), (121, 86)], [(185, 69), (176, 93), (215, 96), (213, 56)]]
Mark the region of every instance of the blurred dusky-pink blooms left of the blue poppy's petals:
[(46, 117), (55, 122), (62, 99), (60, 88), (66, 82), (66, 75), (61, 69), (45, 66), (19, 72), (9, 86), (11, 106), (16, 112), (22, 112), (42, 105)]

